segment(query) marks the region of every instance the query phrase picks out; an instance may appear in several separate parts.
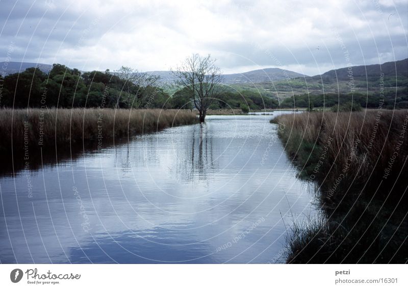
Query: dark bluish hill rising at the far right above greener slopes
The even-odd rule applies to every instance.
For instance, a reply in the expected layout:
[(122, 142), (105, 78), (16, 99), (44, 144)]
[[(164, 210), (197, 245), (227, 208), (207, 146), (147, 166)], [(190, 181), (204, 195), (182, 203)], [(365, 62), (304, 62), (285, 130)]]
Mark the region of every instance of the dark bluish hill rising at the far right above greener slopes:
[(407, 75), (408, 74), (408, 58), (398, 61), (386, 62), (383, 64), (372, 64), (372, 65), (359, 65), (359, 66), (351, 66), (351, 68), (344, 67), (339, 69), (334, 69), (327, 71), (321, 75), (315, 75), (312, 78), (327, 80), (328, 78), (332, 78), (336, 80), (348, 80), (349, 76), (351, 75), (352, 71), (353, 77), (362, 77), (362, 76), (376, 76), (379, 77), (380, 73), (384, 73), (384, 76), (395, 76), (397, 75)]

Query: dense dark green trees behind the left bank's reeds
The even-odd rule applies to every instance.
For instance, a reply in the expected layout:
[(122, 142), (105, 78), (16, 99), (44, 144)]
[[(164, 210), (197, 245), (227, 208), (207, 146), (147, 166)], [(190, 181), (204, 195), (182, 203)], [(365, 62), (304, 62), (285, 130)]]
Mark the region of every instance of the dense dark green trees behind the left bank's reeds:
[[(166, 106), (169, 95), (155, 83), (157, 76), (121, 67), (81, 72), (54, 64), (49, 73), (32, 67), (9, 74), (3, 81), (2, 107), (14, 108), (141, 108)], [(151, 97), (154, 95), (154, 97)], [(170, 103), (169, 103), (170, 104)]]

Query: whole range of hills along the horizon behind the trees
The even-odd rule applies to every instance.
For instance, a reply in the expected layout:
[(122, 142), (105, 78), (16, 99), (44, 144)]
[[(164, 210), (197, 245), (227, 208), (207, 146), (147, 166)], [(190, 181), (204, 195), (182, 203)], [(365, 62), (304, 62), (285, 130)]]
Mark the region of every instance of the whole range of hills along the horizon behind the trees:
[[(38, 67), (47, 73), (52, 65), (28, 62), (0, 63), (5, 74), (23, 71), (29, 67)], [(350, 72), (352, 71), (353, 88), (351, 89)], [(169, 93), (176, 89), (175, 78), (170, 71), (147, 71), (159, 75), (159, 84)], [(358, 65), (351, 68), (344, 67), (329, 70), (320, 75), (308, 76), (280, 68), (266, 68), (244, 73), (224, 74), (223, 83), (230, 86), (232, 91), (252, 90), (269, 97), (293, 97), (301, 94), (327, 93), (377, 93), (379, 89), (380, 73), (384, 73), (384, 88), (400, 92), (408, 87), (408, 59), (383, 64)]]

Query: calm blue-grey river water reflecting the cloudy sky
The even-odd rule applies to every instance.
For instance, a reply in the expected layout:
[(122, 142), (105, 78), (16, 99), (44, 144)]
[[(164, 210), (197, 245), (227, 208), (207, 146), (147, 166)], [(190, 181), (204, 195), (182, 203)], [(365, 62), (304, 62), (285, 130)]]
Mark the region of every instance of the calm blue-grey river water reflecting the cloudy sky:
[(283, 262), (315, 208), (270, 118), (209, 116), (0, 178), (0, 261)]

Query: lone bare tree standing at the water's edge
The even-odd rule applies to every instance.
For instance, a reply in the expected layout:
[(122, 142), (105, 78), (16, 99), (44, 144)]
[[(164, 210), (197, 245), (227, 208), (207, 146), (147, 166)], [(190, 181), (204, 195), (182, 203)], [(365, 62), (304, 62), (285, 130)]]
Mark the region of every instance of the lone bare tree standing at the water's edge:
[(215, 61), (211, 55), (200, 57), (193, 54), (171, 71), (178, 79), (177, 84), (190, 90), (200, 122), (205, 122), (207, 109), (219, 93), (222, 81), (221, 70)]

